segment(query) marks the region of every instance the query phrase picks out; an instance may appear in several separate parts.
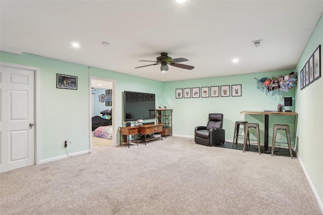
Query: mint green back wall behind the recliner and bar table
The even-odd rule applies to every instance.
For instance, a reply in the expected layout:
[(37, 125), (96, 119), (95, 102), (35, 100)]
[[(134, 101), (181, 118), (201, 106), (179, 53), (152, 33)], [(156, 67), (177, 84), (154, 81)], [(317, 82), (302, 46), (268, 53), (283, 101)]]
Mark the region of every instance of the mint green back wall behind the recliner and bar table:
[[(174, 109), (173, 129), (175, 134), (193, 137), (194, 128), (196, 126), (206, 125), (209, 113), (222, 113), (224, 114), (223, 128), (226, 130), (227, 141), (233, 140), (235, 122), (238, 120), (247, 120), (248, 122), (259, 123), (261, 136), (260, 139), (261, 144), (263, 144), (264, 116), (244, 115), (240, 114), (240, 112), (277, 110), (278, 103), (284, 104), (285, 96), (292, 96), (294, 98), (296, 87), (290, 89), (288, 92), (282, 92), (280, 95), (277, 93), (274, 95), (272, 95), (272, 93), (266, 94), (265, 91), (257, 89), (257, 82), (254, 79), (261, 79), (263, 77), (272, 79), (273, 76), (278, 77), (279, 75), (289, 74), (291, 71), (293, 70), (167, 82), (164, 85), (165, 103), (163, 103), (163, 106)], [(210, 87), (221, 85), (231, 86), (236, 84), (242, 85), (242, 96), (175, 98), (175, 90), (178, 88)], [(293, 102), (293, 104), (294, 103), (295, 102)], [(294, 110), (294, 107), (291, 107), (290, 109)], [(294, 116), (269, 117), (270, 137), (268, 142), (270, 145), (272, 143), (273, 125), (277, 123), (289, 124), (291, 131), (293, 131), (294, 120)], [(286, 140), (286, 134), (281, 133), (281, 135), (282, 141)]]

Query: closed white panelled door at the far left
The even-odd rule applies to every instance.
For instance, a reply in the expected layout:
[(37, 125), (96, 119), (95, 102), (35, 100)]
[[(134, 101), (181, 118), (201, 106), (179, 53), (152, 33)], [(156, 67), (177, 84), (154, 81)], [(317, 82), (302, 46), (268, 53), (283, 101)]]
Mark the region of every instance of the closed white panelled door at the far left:
[(34, 71), (0, 66), (0, 172), (35, 164)]

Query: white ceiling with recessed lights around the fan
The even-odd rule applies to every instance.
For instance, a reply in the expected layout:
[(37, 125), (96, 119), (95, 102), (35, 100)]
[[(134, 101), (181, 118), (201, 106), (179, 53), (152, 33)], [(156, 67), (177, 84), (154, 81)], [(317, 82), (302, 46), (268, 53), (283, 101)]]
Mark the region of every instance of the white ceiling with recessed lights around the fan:
[[(1, 1), (1, 45), (159, 81), (295, 68), (323, 1)], [(323, 36), (323, 35), (322, 35)], [(251, 41), (262, 39), (258, 48)], [(74, 48), (72, 42), (79, 42)], [(102, 46), (108, 41), (108, 47)], [(139, 69), (160, 52), (186, 58)], [(233, 64), (232, 59), (239, 63)]]

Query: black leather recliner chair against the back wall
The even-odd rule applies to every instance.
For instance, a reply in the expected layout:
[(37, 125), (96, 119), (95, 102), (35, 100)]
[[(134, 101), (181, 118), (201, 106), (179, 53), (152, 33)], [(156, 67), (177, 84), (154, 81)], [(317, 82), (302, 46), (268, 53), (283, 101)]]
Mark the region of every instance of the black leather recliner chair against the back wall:
[(209, 114), (206, 126), (195, 127), (195, 143), (214, 146), (225, 142), (223, 114)]

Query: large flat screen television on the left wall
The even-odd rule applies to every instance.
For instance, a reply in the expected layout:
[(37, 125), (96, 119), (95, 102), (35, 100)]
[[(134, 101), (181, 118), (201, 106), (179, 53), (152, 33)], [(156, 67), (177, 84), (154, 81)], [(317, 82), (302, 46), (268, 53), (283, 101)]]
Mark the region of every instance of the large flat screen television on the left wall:
[(155, 119), (155, 94), (124, 91), (125, 121)]

